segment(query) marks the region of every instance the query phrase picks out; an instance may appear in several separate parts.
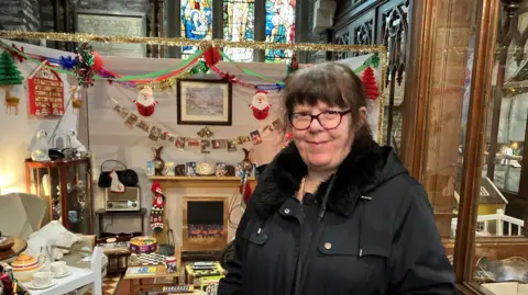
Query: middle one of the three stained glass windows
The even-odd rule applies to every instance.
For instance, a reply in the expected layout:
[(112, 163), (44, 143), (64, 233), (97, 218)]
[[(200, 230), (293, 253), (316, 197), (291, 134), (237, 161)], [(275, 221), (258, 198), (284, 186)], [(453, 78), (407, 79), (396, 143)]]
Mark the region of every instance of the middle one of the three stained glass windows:
[[(226, 41), (254, 41), (254, 0), (223, 0), (223, 38)], [(226, 47), (223, 52), (235, 61), (253, 61), (252, 48)]]

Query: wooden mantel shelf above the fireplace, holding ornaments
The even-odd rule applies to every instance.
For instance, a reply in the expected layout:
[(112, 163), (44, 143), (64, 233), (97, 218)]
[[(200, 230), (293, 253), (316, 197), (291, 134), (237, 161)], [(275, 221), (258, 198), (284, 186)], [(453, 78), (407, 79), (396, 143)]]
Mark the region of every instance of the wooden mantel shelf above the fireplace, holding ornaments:
[[(157, 180), (163, 189), (170, 188), (238, 188), (241, 178), (239, 177), (150, 177), (150, 180)], [(248, 178), (251, 188), (256, 184), (255, 178)]]

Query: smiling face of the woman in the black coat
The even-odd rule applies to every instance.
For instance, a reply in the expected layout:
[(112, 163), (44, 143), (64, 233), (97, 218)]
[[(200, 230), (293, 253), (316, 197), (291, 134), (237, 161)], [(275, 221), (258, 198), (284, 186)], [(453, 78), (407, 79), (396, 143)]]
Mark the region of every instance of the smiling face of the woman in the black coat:
[[(327, 111), (349, 110), (330, 107), (323, 102), (319, 102), (316, 106), (297, 105), (294, 109), (294, 113), (311, 115)], [(322, 120), (322, 115), (319, 118)], [(296, 129), (294, 126), (290, 128), (293, 140), (309, 171), (334, 172), (349, 155), (354, 140), (351, 113), (343, 115), (341, 123), (336, 128), (324, 128), (318, 120), (311, 121), (310, 126), (304, 131)]]

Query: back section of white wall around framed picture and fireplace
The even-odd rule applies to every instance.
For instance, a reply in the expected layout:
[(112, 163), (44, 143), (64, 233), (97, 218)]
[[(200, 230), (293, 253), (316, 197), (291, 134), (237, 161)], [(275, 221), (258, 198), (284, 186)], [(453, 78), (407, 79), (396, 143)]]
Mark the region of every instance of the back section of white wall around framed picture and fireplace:
[[(175, 59), (146, 59), (146, 58), (118, 58), (103, 57), (103, 65), (106, 68), (119, 72), (120, 75), (139, 75), (155, 70), (174, 67), (179, 63)], [(284, 79), (285, 65), (268, 65), (268, 64), (244, 64), (245, 68), (252, 69), (260, 75), (273, 78), (276, 80)], [(231, 75), (239, 77), (240, 71), (229, 63), (221, 61), (218, 68), (228, 71)], [(216, 77), (216, 76), (212, 76)], [(209, 77), (211, 78), (211, 77)], [(240, 79), (249, 81), (251, 77), (241, 76)], [(265, 83), (262, 80), (255, 82)], [(278, 93), (271, 91), (270, 99), (272, 110), (267, 120), (257, 122), (249, 109), (255, 90), (233, 84), (233, 121), (232, 126), (208, 126), (215, 136), (211, 139), (233, 138), (239, 135), (249, 135), (250, 132), (262, 128), (270, 124), (277, 114)], [(146, 161), (154, 158), (153, 147), (158, 147), (166, 144), (164, 147), (162, 158), (165, 161), (174, 161), (176, 163), (185, 163), (186, 161), (209, 162), (228, 162), (234, 164), (243, 158), (242, 146), (238, 147), (237, 152), (228, 152), (227, 150), (211, 150), (209, 155), (200, 154), (200, 150), (177, 150), (168, 145), (168, 141), (152, 141), (147, 138), (147, 134), (134, 127), (129, 128), (123, 124), (123, 120), (112, 110), (113, 101), (109, 97), (119, 101), (119, 103), (129, 110), (136, 110), (133, 104), (138, 90), (134, 88), (123, 87), (119, 83), (108, 84), (107, 82), (98, 82), (95, 88), (88, 91), (88, 114), (89, 114), (89, 134), (90, 134), (90, 149), (95, 154), (95, 162), (97, 166), (94, 169), (94, 175), (97, 181), (99, 174), (99, 166), (107, 159), (117, 159), (124, 162), (129, 168), (134, 169), (140, 175), (140, 184), (142, 188), (142, 206), (150, 208), (152, 205), (152, 193), (150, 191), (152, 182), (146, 177)], [(156, 111), (145, 120), (153, 123), (172, 134), (184, 137), (198, 137), (196, 133), (202, 128), (200, 125), (177, 125), (176, 120), (176, 91), (172, 93), (155, 93), (158, 105)], [(267, 162), (271, 160), (282, 146), (277, 144), (279, 137), (276, 134), (270, 134), (263, 137), (264, 143), (258, 146), (246, 144), (245, 148), (255, 148), (255, 161)], [(102, 190), (96, 188), (96, 207), (103, 207)], [(175, 189), (166, 190), (166, 217), (168, 217), (172, 228), (176, 235), (176, 241), (180, 241), (182, 236), (182, 206), (184, 196), (224, 196), (231, 197), (233, 190), (231, 189)], [(234, 219), (239, 218), (237, 214)], [(110, 232), (129, 232), (135, 231), (140, 228), (140, 220), (138, 218), (122, 217), (118, 219), (107, 218), (106, 230)], [(145, 225), (148, 227), (148, 220), (145, 219)], [(230, 237), (234, 230), (230, 229)]]

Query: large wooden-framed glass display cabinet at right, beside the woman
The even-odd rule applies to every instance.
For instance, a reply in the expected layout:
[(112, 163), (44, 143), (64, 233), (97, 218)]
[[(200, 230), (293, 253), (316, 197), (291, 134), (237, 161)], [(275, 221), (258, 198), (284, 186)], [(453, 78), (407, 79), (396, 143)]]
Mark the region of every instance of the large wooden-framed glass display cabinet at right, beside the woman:
[(528, 0), (413, 3), (404, 162), (459, 294), (526, 294)]

